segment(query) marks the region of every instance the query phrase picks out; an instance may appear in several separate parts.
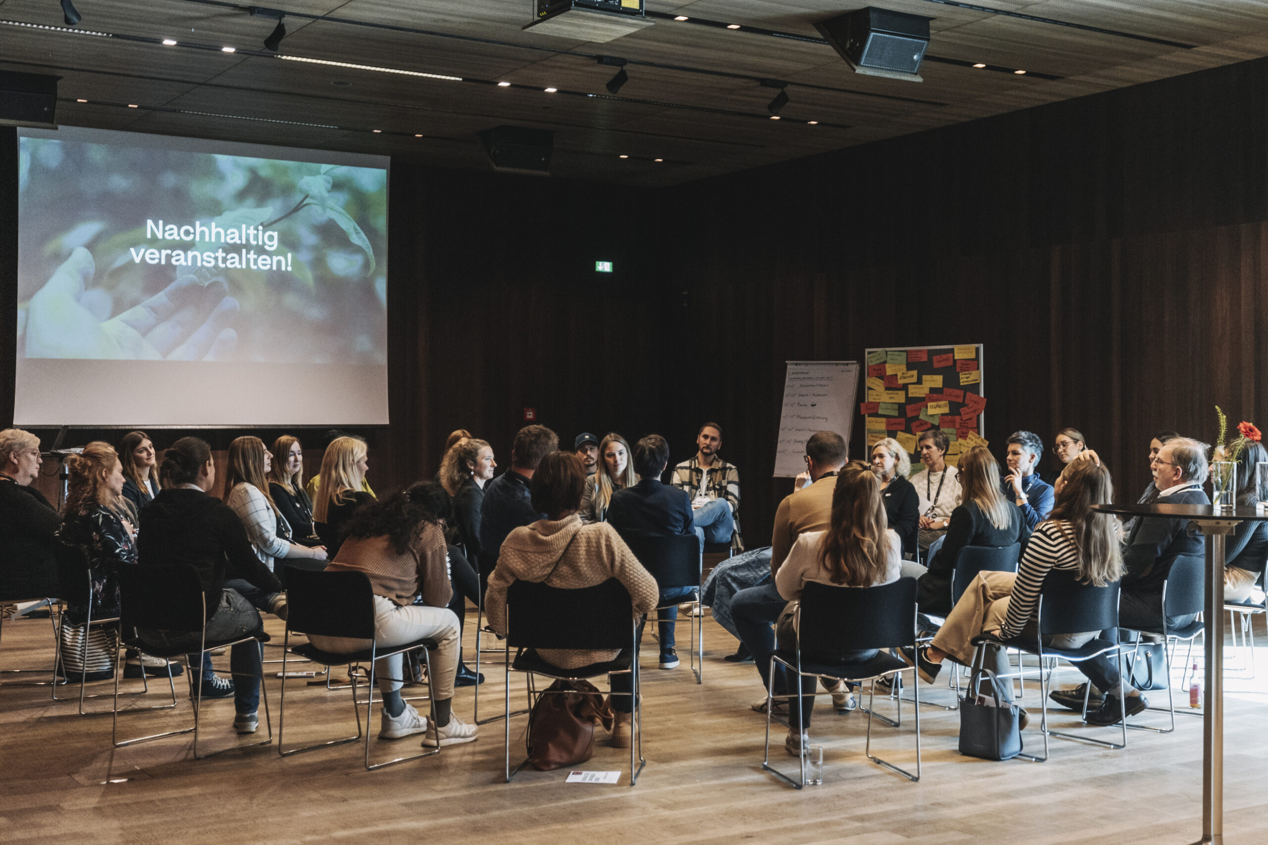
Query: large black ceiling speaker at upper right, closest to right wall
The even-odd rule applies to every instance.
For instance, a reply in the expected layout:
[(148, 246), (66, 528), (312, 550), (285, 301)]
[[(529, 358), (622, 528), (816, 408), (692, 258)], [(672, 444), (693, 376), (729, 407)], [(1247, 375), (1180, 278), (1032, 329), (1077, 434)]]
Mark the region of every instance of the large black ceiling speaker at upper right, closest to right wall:
[(924, 15), (867, 6), (814, 27), (855, 72), (921, 82), (921, 61), (929, 46), (931, 20), (933, 18)]

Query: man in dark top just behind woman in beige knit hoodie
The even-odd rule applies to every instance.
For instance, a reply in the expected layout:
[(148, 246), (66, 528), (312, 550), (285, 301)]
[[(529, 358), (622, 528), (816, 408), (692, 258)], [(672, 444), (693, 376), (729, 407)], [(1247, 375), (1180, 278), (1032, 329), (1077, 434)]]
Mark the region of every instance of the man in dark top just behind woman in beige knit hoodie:
[(559, 435), (544, 425), (525, 425), (511, 442), (511, 468), (484, 486), (479, 508), (481, 593), (488, 589), (488, 576), (497, 567), (497, 556), (506, 535), (520, 525), (531, 525), (545, 514), (533, 509), (529, 482), (541, 458), (559, 449)]

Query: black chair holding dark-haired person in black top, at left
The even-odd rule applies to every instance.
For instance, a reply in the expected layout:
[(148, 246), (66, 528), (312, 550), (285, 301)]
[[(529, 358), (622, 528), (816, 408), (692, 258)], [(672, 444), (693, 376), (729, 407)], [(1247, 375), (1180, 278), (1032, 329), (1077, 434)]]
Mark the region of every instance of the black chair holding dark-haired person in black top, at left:
[[(219, 751), (212, 751), (210, 754), (198, 752), (199, 717), (203, 712), (203, 702), (199, 695), (203, 684), (202, 672), (195, 672), (198, 675), (198, 689), (195, 689), (193, 699), (194, 727), (131, 740), (119, 740), (119, 676), (123, 674), (122, 646), (136, 648), (143, 655), (171, 660), (185, 653), (227, 648), (242, 642), (255, 642), (255, 647), (259, 648), (260, 638), (268, 637), (261, 628), (237, 639), (207, 642), (205, 606), (203, 582), (198, 577), (198, 570), (191, 566), (175, 563), (170, 566), (124, 566), (119, 570), (119, 639), (122, 643), (114, 666), (114, 719), (110, 730), (110, 738), (114, 742), (114, 747), (122, 749), (126, 745), (136, 745), (138, 742), (148, 742), (150, 740), (161, 740), (191, 732), (194, 735), (194, 759), (204, 760), (224, 751), (237, 751), (273, 742), (273, 723), (269, 719), (269, 697), (265, 695), (262, 670), (260, 672), (260, 700), (264, 703), (264, 722), (269, 731), (269, 736), (265, 740), (233, 745)], [(197, 648), (188, 646), (175, 648), (152, 646), (137, 636), (137, 628), (174, 633), (197, 633), (200, 645)]]

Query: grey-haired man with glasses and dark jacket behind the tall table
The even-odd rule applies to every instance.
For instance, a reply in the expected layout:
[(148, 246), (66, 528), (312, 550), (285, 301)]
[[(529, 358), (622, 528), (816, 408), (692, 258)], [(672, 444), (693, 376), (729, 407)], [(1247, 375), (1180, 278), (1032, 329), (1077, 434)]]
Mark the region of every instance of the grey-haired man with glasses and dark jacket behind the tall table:
[[(1189, 438), (1172, 438), (1161, 444), (1153, 459), (1155, 505), (1210, 505), (1202, 483), (1206, 481), (1206, 444)], [(1077, 461), (1101, 458), (1090, 449)], [(1182, 516), (1140, 516), (1122, 547), (1122, 594), (1118, 598), (1118, 626), (1134, 631), (1163, 628), (1163, 581), (1172, 563), (1182, 554), (1203, 554), (1200, 529)], [(1170, 617), (1167, 627), (1181, 628), (1197, 615)], [(1144, 634), (1145, 639), (1156, 636)], [(1116, 724), (1120, 718), (1117, 702), (1106, 703), (1106, 690), (1092, 689), (1088, 695), (1088, 722)], [(1071, 711), (1083, 709), (1083, 686), (1054, 690), (1049, 698)], [(1113, 697), (1110, 697), (1113, 698)], [(1142, 695), (1127, 698), (1127, 716), (1149, 705)], [(1098, 708), (1098, 709), (1097, 709)]]

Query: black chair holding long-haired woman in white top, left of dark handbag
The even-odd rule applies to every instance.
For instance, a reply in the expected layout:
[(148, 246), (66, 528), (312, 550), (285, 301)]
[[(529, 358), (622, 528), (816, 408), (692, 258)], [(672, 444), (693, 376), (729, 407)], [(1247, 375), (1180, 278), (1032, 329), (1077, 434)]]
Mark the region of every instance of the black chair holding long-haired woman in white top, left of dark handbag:
[[(792, 686), (800, 686), (801, 678), (833, 678), (846, 681), (872, 681), (867, 707), (867, 759), (890, 771), (896, 771), (908, 780), (921, 779), (921, 689), (915, 670), (903, 660), (886, 653), (885, 648), (915, 648), (915, 579), (899, 579), (893, 584), (874, 587), (844, 587), (827, 584), (806, 584), (798, 604), (796, 642), (792, 648), (776, 646), (771, 655), (770, 678), (775, 685), (776, 665), (786, 666), (795, 672), (798, 680)], [(877, 650), (875, 657), (865, 661), (847, 660), (850, 652)], [(912, 671), (912, 688), (915, 693), (915, 774), (900, 769), (893, 763), (881, 760), (871, 752), (871, 721), (876, 702), (875, 680), (891, 678), (899, 672)], [(815, 693), (818, 695), (820, 693)], [(805, 755), (801, 749), (801, 776), (792, 780), (771, 765), (771, 709), (773, 700), (796, 698), (798, 717), (801, 721), (801, 693), (789, 691), (773, 695), (766, 691), (766, 751), (762, 769), (775, 774), (785, 783), (800, 789), (805, 784)], [(791, 705), (792, 703), (789, 702)], [(898, 702), (899, 718), (885, 719), (899, 727), (902, 723), (902, 699)], [(884, 718), (884, 717), (881, 717)]]

